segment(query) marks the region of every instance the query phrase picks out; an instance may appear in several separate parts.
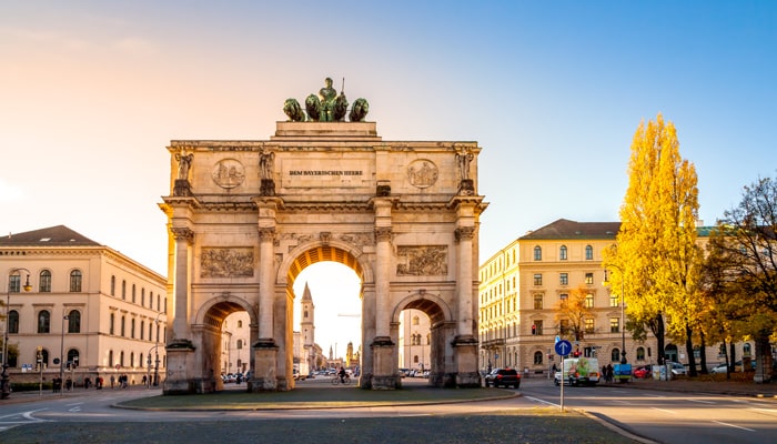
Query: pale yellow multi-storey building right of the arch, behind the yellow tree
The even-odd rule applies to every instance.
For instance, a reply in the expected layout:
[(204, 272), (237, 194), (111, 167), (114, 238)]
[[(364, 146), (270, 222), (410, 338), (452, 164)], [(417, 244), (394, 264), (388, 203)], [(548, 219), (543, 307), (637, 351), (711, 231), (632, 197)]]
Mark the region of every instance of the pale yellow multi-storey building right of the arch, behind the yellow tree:
[[(581, 355), (596, 356), (603, 365), (619, 362), (622, 350), (632, 365), (657, 362), (655, 336), (648, 332), (647, 340), (639, 342), (624, 331), (620, 292), (605, 285), (602, 252), (615, 243), (619, 228), (619, 222), (559, 219), (516, 239), (481, 265), (478, 337), (483, 370), (511, 366), (532, 375), (547, 375), (559, 362), (554, 352), (556, 336), (569, 340)], [(705, 242), (707, 232), (699, 228), (699, 243)], [(557, 312), (559, 302), (578, 289), (592, 315), (583, 324), (584, 337), (575, 342)], [(738, 359), (749, 359), (755, 349), (745, 342), (736, 344), (735, 350)], [(669, 361), (688, 363), (684, 343), (667, 337), (664, 353)], [(719, 345), (708, 346), (706, 355), (708, 365), (725, 360)]]

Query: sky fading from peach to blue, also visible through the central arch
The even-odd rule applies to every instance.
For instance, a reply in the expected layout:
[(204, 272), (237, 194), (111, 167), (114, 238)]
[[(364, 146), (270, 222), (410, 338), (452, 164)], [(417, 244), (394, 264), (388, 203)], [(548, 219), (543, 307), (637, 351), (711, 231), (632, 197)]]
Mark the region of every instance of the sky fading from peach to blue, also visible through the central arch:
[[(557, 219), (617, 221), (658, 113), (706, 224), (777, 167), (774, 1), (0, 4), (0, 233), (67, 225), (163, 275), (170, 141), (268, 140), (325, 77), (383, 140), (478, 142), (481, 262)], [(357, 345), (349, 274), (322, 275), (299, 280), (316, 342)]]

